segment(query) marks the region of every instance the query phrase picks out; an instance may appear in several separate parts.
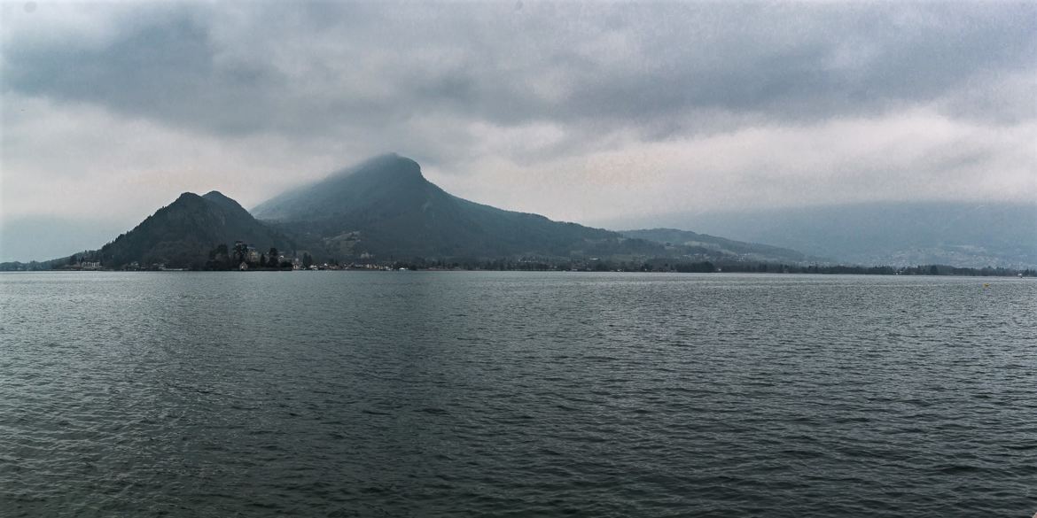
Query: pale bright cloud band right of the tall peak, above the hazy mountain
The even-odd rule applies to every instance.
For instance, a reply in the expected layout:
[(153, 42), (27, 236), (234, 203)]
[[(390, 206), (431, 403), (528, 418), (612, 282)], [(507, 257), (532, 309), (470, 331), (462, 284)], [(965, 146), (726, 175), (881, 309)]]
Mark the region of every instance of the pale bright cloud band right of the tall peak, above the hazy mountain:
[(1035, 141), (1035, 121), (981, 125), (920, 108), (656, 142), (629, 139), (532, 168), (495, 149), (468, 166), (487, 171), (482, 183), (444, 184), (491, 204), (588, 223), (621, 221), (617, 213), (645, 221), (652, 213), (780, 207), (788, 200), (1026, 202), (1037, 199)]

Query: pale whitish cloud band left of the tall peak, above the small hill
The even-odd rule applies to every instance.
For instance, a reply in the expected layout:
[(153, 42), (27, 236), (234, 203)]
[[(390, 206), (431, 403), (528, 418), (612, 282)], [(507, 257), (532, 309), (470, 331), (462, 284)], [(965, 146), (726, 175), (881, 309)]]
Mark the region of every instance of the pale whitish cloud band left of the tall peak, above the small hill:
[(340, 146), (268, 135), (213, 139), (89, 104), (8, 95), (0, 177), (4, 213), (89, 215), (136, 223), (185, 191), (256, 203), (330, 171)]

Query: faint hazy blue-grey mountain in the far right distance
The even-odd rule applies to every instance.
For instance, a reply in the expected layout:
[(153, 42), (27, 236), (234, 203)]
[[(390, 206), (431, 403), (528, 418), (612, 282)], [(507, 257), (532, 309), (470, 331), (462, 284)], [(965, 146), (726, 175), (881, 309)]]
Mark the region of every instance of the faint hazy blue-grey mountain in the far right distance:
[(1034, 203), (862, 203), (670, 214), (642, 223), (763, 241), (844, 263), (1037, 265)]

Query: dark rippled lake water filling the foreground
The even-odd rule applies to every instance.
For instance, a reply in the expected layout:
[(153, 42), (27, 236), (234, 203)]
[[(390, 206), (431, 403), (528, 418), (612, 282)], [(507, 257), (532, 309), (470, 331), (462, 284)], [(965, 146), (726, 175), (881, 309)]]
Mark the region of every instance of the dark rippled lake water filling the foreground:
[(1029, 518), (1035, 315), (1017, 279), (3, 275), (0, 516)]

